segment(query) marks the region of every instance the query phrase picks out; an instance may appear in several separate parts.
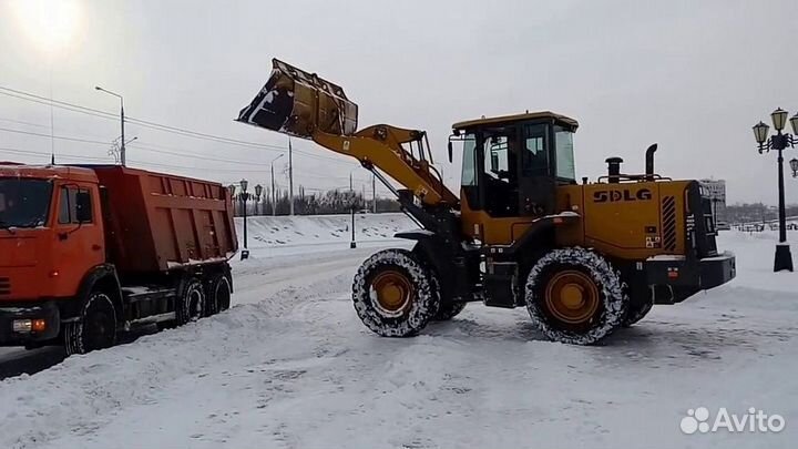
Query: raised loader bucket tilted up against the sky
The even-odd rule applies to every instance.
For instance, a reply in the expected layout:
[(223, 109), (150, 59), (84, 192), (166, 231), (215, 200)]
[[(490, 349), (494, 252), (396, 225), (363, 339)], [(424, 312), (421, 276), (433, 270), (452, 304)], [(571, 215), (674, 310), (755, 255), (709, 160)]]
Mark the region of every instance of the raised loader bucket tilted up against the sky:
[(357, 104), (344, 89), (283, 61), (272, 63), (272, 75), (237, 121), (303, 139), (311, 139), (316, 130), (336, 135), (357, 131)]

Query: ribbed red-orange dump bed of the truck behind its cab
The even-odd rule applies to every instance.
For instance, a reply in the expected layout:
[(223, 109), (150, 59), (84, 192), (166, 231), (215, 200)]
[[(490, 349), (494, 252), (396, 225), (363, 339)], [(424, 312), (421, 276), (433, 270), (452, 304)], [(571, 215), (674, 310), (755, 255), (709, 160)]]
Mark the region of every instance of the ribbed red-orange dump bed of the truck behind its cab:
[(109, 261), (121, 274), (221, 262), (237, 251), (223, 185), (116, 165), (92, 169), (103, 187)]

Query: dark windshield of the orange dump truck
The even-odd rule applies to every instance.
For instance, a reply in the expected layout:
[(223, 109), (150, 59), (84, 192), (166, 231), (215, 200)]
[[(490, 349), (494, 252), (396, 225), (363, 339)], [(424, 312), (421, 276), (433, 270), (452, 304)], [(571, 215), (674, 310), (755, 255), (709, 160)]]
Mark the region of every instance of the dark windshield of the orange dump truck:
[(0, 178), (0, 228), (44, 225), (51, 195), (50, 181)]

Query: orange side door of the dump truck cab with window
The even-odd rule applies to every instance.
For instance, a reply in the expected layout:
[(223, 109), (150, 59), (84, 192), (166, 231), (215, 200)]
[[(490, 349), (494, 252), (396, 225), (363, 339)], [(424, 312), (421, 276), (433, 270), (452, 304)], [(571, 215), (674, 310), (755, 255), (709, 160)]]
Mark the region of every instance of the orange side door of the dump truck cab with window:
[(86, 273), (105, 261), (96, 186), (63, 184), (58, 190), (53, 267), (59, 296), (76, 294)]

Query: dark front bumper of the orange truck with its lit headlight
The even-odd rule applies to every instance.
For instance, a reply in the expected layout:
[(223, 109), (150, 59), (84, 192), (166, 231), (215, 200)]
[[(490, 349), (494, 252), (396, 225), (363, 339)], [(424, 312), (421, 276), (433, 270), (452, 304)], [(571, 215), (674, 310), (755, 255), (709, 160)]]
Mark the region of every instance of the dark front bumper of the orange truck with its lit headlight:
[(55, 338), (61, 313), (53, 302), (0, 305), (0, 346), (19, 346)]

